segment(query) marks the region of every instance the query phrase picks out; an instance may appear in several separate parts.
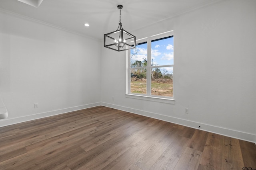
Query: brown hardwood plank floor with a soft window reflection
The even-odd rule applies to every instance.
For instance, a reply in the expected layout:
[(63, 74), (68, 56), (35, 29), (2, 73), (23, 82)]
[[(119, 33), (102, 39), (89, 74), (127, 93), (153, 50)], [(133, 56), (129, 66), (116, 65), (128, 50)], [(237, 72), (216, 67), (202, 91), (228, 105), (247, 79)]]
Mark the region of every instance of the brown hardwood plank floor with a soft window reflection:
[(0, 128), (1, 170), (256, 169), (254, 143), (98, 106)]

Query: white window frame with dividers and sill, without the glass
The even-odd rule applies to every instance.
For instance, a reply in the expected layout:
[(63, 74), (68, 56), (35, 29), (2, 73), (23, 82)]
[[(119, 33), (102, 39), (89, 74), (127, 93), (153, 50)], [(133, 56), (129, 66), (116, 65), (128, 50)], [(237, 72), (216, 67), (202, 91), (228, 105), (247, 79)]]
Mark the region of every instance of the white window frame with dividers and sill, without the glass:
[[(131, 82), (131, 76), (130, 76), (130, 50), (126, 51), (126, 98), (135, 98), (139, 100), (148, 100), (148, 101), (154, 101), (154, 102), (162, 102), (162, 103), (168, 103), (168, 104), (174, 104), (174, 63), (171, 65), (158, 65), (158, 66), (151, 66), (151, 42), (154, 40), (166, 38), (166, 37), (174, 37), (173, 30), (168, 31), (165, 33), (160, 33), (157, 35), (153, 35), (150, 37), (142, 38), (136, 40), (136, 44), (140, 43), (147, 43), (147, 66), (142, 66), (139, 68), (147, 68), (148, 70), (151, 70), (151, 68), (162, 68), (162, 67), (172, 67), (173, 68), (173, 77), (172, 77), (172, 82), (173, 82), (173, 95), (172, 97), (167, 97), (167, 96), (156, 96), (151, 94), (151, 71), (147, 71), (146, 77), (146, 91), (147, 94), (136, 94), (136, 93), (131, 93), (130, 92), (130, 82)], [(138, 68), (138, 67), (137, 67)], [(134, 69), (134, 68), (132, 68)], [(148, 94), (150, 92), (150, 94)]]

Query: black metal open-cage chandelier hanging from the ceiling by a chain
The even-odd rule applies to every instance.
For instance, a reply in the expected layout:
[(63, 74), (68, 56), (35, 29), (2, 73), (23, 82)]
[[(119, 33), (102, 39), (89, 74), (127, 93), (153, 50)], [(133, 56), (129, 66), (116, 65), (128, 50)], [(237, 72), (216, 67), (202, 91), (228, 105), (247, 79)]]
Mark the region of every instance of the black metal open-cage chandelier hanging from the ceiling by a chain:
[(118, 28), (116, 31), (104, 34), (104, 47), (115, 50), (125, 51), (136, 48), (136, 37), (122, 27), (121, 23), (121, 9), (122, 5), (118, 5), (117, 8), (120, 10), (120, 19)]

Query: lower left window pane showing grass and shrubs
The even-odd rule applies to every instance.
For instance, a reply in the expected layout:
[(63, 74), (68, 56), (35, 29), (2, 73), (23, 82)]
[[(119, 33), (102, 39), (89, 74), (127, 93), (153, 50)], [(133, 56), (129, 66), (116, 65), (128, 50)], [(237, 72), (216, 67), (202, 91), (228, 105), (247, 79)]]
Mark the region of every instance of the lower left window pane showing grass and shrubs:
[(132, 69), (130, 71), (130, 75), (130, 92), (138, 94), (147, 94), (146, 69)]

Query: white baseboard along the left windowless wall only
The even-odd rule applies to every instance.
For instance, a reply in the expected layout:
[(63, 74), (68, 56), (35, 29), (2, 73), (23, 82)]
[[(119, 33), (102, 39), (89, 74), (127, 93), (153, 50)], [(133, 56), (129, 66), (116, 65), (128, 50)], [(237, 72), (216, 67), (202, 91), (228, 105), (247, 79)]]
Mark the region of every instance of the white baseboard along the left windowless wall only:
[(25, 122), (25, 121), (40, 119), (40, 118), (44, 118), (44, 117), (49, 117), (49, 116), (53, 116), (53, 115), (59, 115), (59, 114), (62, 114), (62, 113), (68, 113), (68, 112), (71, 112), (71, 111), (87, 109), (87, 108), (90, 108), (90, 107), (95, 107), (95, 106), (100, 106), (100, 105), (101, 105), (101, 103), (97, 102), (97, 103), (86, 104), (86, 105), (81, 105), (81, 106), (68, 107), (68, 108), (65, 108), (65, 109), (47, 111), (47, 112), (38, 113), (38, 114), (34, 114), (34, 115), (15, 117), (15, 118), (12, 118), (12, 119), (8, 119), (8, 118), (1, 119), (0, 120), (0, 127), (13, 125), (13, 124), (16, 124), (16, 123), (22, 123), (22, 122)]

